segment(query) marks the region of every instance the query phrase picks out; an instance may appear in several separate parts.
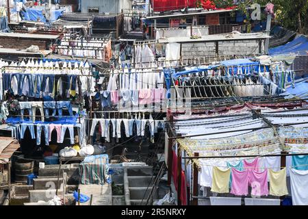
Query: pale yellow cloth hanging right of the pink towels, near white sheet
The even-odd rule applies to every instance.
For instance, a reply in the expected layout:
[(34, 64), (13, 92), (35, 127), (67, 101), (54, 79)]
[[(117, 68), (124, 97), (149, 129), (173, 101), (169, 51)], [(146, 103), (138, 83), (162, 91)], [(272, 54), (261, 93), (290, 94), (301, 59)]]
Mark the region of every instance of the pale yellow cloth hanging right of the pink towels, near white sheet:
[(270, 177), (270, 195), (272, 196), (285, 196), (287, 192), (287, 168), (283, 168), (277, 172), (269, 171)]

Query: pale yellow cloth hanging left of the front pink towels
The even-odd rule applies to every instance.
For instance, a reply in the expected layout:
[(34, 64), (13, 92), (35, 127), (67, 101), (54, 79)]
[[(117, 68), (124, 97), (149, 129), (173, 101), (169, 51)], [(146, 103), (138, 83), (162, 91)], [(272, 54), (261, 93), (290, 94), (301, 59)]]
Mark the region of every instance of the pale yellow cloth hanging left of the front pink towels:
[(231, 168), (222, 170), (217, 166), (213, 167), (213, 179), (211, 183), (211, 192), (229, 193)]

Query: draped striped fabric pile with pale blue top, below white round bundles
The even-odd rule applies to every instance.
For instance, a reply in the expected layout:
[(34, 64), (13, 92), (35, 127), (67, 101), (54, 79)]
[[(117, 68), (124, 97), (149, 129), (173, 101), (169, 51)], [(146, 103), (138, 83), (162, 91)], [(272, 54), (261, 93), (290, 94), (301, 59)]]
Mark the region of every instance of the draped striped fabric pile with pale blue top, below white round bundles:
[(79, 164), (81, 184), (104, 185), (110, 183), (108, 155), (92, 155)]

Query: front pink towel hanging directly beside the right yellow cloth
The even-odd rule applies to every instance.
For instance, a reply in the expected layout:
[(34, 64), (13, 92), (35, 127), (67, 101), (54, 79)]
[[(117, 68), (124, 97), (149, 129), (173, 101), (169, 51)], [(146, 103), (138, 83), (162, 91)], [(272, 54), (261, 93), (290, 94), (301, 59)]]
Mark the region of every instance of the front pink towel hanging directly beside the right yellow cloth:
[(268, 196), (268, 169), (264, 172), (248, 170), (251, 194), (254, 196)]

